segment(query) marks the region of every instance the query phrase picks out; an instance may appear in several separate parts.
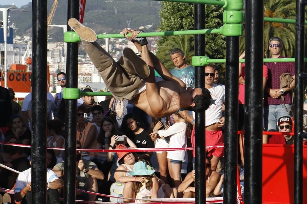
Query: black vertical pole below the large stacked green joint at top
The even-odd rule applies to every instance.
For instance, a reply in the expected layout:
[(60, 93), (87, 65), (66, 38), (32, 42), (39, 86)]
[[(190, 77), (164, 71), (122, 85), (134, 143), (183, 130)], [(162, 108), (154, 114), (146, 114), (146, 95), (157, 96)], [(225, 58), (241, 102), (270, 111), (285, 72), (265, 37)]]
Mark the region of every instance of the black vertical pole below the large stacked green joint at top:
[(226, 37), (224, 203), (237, 200), (239, 36)]

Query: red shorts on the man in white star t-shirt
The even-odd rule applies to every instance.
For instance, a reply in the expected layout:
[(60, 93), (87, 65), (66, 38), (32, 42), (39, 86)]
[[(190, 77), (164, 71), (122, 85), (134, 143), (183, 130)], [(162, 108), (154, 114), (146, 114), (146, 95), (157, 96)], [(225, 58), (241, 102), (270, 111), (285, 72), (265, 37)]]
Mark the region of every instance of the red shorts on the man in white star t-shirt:
[[(206, 130), (206, 146), (223, 145), (223, 144), (224, 144), (224, 138), (221, 129), (213, 131)], [(210, 157), (211, 155), (214, 155), (216, 157), (224, 156), (224, 147), (219, 147), (219, 148), (213, 147), (206, 150), (208, 151), (208, 157)]]

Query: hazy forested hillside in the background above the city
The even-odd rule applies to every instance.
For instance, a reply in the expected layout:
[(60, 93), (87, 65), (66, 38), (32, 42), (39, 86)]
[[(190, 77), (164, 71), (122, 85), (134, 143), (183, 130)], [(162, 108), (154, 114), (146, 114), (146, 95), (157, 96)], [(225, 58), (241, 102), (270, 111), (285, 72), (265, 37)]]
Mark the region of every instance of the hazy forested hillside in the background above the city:
[[(48, 13), (50, 13), (53, 1), (48, 1)], [(132, 29), (140, 26), (147, 32), (157, 30), (160, 10), (160, 2), (148, 0), (87, 0), (84, 13), (84, 25), (89, 26), (98, 34), (119, 33), (122, 28), (130, 25)], [(0, 5), (7, 8), (9, 5)], [(21, 6), (28, 12), (10, 10), (10, 24), (15, 23), (18, 28), (15, 35), (31, 36), (32, 27), (32, 2)], [(116, 12), (115, 12), (116, 10)], [(59, 0), (51, 25), (67, 24), (67, 1)], [(149, 26), (146, 26), (149, 25)], [(49, 42), (63, 41), (63, 29), (49, 28)]]

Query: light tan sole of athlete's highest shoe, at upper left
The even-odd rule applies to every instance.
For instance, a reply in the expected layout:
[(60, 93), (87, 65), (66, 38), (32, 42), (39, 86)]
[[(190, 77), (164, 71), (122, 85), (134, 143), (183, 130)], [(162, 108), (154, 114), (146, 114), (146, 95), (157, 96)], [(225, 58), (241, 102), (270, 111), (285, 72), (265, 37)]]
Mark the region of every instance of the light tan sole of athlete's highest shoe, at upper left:
[(82, 25), (76, 18), (69, 19), (68, 25), (80, 36), (82, 40), (91, 43), (97, 40), (97, 34), (95, 31)]

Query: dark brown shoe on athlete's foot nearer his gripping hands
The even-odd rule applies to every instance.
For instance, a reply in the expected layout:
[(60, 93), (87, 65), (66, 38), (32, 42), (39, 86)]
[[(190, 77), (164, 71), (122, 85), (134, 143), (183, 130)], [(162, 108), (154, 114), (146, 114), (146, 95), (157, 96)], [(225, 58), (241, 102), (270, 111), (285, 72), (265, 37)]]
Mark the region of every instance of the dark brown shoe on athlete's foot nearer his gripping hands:
[(150, 70), (146, 62), (128, 47), (124, 48), (122, 51), (122, 57), (119, 59), (118, 64), (132, 76), (140, 76), (145, 79), (150, 74)]

